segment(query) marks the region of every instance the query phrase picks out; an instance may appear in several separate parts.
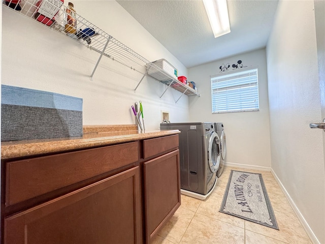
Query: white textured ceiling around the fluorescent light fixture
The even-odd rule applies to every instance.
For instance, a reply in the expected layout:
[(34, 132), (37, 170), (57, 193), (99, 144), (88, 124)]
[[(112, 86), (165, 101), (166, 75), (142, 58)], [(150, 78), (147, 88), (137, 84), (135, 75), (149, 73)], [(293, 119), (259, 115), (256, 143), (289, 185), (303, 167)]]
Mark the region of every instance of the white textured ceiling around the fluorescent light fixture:
[(117, 1), (187, 68), (267, 44), (277, 0), (228, 0), (231, 33), (214, 38), (201, 0)]

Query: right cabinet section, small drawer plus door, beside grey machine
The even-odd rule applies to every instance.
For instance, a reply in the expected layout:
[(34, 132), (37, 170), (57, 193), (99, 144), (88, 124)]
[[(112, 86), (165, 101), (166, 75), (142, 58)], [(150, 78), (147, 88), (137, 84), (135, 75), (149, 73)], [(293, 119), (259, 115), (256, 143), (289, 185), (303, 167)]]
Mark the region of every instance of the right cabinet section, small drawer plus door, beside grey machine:
[[(178, 135), (144, 140), (143, 195), (146, 242), (181, 205)], [(151, 159), (153, 158), (153, 159)]]

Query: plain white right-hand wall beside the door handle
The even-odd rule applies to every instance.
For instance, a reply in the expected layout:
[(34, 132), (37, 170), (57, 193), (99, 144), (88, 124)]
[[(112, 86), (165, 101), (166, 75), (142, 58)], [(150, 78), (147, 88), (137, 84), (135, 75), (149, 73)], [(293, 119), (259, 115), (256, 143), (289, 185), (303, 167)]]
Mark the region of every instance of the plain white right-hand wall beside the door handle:
[[(267, 45), (272, 170), (325, 243), (325, 182), (313, 1), (280, 1)], [(313, 233), (312, 233), (313, 232)]]

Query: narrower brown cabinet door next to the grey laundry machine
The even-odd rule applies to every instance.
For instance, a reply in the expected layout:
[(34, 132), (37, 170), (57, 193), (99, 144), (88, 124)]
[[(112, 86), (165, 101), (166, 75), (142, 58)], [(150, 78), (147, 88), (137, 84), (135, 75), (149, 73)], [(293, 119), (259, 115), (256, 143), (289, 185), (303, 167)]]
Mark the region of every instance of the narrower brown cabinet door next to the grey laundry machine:
[(181, 204), (179, 170), (178, 149), (144, 163), (147, 243)]

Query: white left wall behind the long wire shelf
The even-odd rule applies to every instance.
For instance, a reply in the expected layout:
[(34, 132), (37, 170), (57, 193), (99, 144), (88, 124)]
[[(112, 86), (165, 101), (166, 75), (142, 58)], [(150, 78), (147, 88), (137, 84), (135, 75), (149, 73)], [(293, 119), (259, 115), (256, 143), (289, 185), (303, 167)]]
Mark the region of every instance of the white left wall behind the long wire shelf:
[[(167, 59), (180, 74), (186, 68), (115, 1), (74, 1), (78, 14), (148, 60)], [(67, 5), (65, 3), (64, 5)], [(84, 125), (135, 124), (131, 105), (142, 101), (146, 130), (159, 129), (160, 110), (188, 119), (188, 97), (153, 78), (100, 56), (45, 25), (3, 8), (2, 84), (83, 98)]]

